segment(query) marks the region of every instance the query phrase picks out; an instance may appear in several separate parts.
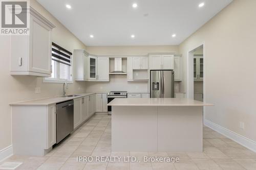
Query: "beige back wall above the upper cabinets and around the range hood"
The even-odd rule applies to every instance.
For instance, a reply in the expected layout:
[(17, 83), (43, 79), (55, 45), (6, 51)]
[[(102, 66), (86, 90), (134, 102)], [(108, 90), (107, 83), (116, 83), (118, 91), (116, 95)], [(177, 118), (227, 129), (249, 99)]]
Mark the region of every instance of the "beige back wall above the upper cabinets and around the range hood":
[[(166, 46), (87, 46), (95, 55), (147, 55), (148, 53), (178, 53), (178, 45)], [(148, 92), (148, 82), (127, 82), (127, 76), (111, 75), (110, 82), (86, 82), (86, 91)]]

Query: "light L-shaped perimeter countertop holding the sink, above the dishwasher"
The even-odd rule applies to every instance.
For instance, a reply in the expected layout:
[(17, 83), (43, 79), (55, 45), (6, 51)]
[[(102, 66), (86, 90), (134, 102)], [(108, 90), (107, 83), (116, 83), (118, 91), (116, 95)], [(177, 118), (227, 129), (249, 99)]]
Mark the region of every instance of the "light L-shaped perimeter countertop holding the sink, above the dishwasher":
[[(95, 94), (95, 93), (97, 93), (97, 92), (81, 93), (81, 94), (78, 94), (79, 96), (73, 96), (73, 97), (56, 96), (56, 97), (51, 97), (51, 98), (35, 99), (35, 100), (29, 100), (29, 101), (24, 101), (24, 102), (15, 102), (15, 103), (11, 103), (10, 105), (50, 105), (50, 104), (69, 101), (69, 100), (76, 99), (76, 98), (81, 98), (83, 96), (87, 96), (87, 95), (91, 95), (91, 94)], [(103, 92), (101, 92), (101, 93), (103, 93)]]

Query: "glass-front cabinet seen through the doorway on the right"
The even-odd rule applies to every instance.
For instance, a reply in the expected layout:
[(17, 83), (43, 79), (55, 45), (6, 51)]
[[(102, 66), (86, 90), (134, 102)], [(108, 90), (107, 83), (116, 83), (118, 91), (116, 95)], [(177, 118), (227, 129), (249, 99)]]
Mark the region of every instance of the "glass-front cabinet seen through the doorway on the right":
[(194, 55), (194, 80), (203, 81), (204, 59), (202, 55)]

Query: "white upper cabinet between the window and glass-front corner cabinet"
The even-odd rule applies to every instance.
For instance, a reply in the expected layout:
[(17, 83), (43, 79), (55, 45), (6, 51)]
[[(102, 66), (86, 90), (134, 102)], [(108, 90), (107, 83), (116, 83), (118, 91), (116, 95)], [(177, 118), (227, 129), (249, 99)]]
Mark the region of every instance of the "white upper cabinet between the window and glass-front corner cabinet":
[(88, 80), (88, 54), (85, 50), (74, 50), (73, 53), (74, 80)]

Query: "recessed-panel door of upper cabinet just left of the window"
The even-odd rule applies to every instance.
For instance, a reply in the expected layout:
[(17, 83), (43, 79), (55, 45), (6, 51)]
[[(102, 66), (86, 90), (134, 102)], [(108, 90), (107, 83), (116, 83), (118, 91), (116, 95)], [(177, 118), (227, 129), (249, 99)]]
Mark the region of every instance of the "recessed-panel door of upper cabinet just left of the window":
[(29, 70), (51, 74), (51, 29), (30, 15)]

